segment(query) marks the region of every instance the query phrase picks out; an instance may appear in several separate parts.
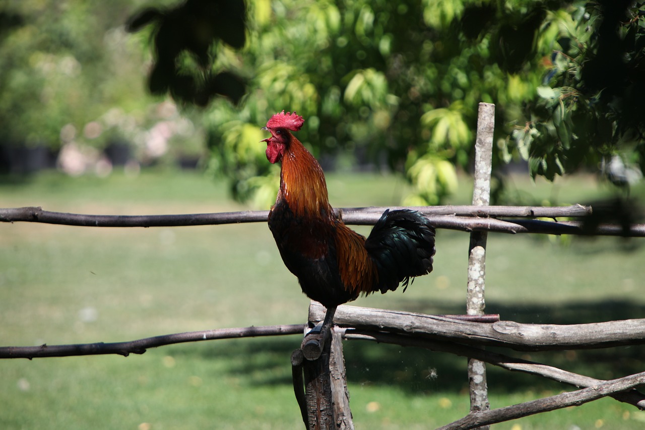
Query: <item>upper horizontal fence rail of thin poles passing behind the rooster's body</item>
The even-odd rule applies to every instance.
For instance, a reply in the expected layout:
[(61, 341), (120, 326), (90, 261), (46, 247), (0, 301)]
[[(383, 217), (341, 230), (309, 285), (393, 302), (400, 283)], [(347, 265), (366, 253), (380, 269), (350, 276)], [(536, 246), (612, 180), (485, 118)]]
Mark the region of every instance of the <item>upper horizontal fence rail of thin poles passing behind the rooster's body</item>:
[[(385, 209), (399, 207), (341, 208), (336, 209), (342, 220), (352, 225), (372, 225)], [(600, 224), (587, 229), (583, 221), (499, 220), (495, 216), (513, 218), (584, 218), (591, 214), (591, 207), (572, 205), (566, 207), (528, 206), (434, 206), (413, 207), (426, 214), (438, 229), (462, 231), (491, 231), (506, 233), (582, 234), (604, 236), (645, 237), (645, 224), (628, 226)], [(37, 222), (83, 227), (180, 227), (189, 225), (220, 225), (233, 223), (265, 222), (266, 210), (243, 210), (208, 214), (169, 215), (92, 215), (52, 212), (41, 207), (0, 209), (0, 221)]]

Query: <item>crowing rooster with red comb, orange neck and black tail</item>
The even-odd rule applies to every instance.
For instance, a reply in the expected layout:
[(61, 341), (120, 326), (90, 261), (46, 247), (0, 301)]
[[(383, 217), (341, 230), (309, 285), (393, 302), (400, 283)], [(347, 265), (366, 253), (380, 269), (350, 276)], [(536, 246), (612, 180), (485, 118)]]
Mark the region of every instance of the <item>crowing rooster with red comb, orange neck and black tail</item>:
[(287, 269), (310, 299), (327, 308), (360, 294), (394, 291), (432, 271), (435, 229), (413, 210), (386, 210), (368, 238), (348, 228), (328, 200), (323, 169), (292, 131), (303, 127), (295, 112), (275, 114), (262, 129), (271, 133), (266, 158), (281, 163), (280, 189), (268, 224)]

